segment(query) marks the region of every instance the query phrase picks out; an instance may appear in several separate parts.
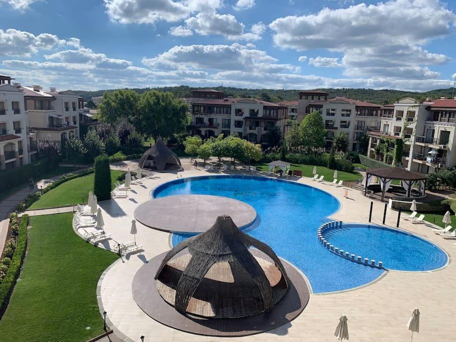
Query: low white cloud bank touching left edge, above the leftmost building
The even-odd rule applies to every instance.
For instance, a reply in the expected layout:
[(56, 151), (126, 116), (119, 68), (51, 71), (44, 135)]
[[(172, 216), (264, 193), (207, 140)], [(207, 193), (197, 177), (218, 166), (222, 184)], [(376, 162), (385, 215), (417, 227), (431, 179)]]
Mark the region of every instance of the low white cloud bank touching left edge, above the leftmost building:
[(35, 36), (25, 31), (0, 29), (0, 56), (30, 57), (39, 50), (52, 49), (58, 43), (59, 38), (48, 33)]

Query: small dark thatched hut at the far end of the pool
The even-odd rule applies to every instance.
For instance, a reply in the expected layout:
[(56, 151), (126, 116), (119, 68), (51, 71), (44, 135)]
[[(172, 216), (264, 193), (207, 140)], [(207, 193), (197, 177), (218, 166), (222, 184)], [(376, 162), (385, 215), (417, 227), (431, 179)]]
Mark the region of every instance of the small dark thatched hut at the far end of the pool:
[(158, 138), (155, 145), (144, 152), (139, 160), (139, 167), (159, 172), (182, 168), (179, 157), (165, 145), (162, 138)]

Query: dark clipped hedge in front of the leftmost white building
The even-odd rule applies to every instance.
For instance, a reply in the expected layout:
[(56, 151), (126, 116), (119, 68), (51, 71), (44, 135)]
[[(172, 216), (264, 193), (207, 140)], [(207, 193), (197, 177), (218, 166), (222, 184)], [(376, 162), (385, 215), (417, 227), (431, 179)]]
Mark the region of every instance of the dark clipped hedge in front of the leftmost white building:
[(59, 166), (58, 161), (49, 162), (48, 159), (42, 159), (38, 162), (26, 164), (12, 170), (0, 172), (0, 192), (8, 190), (9, 186), (16, 186), (27, 183), (31, 177), (38, 178)]

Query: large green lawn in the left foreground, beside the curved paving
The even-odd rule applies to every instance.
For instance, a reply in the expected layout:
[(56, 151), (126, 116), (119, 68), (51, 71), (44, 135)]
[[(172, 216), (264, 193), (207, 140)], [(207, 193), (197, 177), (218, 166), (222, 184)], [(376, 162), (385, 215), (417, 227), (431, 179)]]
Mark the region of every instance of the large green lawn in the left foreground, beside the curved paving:
[(118, 256), (78, 237), (72, 219), (31, 217), (29, 251), (0, 320), (1, 341), (87, 341), (103, 332), (97, 283)]

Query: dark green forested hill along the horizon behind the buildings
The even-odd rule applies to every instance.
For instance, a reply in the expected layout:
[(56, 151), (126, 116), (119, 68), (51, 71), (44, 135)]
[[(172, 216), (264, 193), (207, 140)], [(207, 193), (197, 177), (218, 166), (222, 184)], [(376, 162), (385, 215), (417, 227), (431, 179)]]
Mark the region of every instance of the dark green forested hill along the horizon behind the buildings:
[[(190, 97), (192, 94), (193, 89), (203, 89), (203, 88), (193, 88), (188, 86), (179, 86), (179, 87), (162, 87), (162, 88), (142, 88), (142, 89), (133, 89), (138, 93), (144, 93), (150, 89), (157, 89), (160, 91), (169, 91), (172, 92), (177, 97)], [(215, 87), (211, 89), (216, 89), (225, 93), (226, 96), (233, 96), (233, 97), (246, 97), (246, 98), (261, 98), (265, 101), (271, 102), (280, 102), (286, 100), (297, 100), (298, 93), (301, 90), (297, 89), (243, 89), (243, 88), (232, 88), (232, 87)], [(393, 103), (398, 99), (404, 97), (412, 97), (417, 100), (424, 100), (426, 97), (429, 98), (440, 98), (446, 97), (450, 98), (452, 94), (452, 88), (448, 89), (435, 89), (428, 92), (405, 92), (400, 90), (391, 90), (391, 89), (381, 89), (381, 90), (374, 90), (374, 89), (353, 89), (353, 88), (341, 88), (341, 89), (334, 89), (334, 88), (318, 88), (318, 90), (325, 91), (329, 94), (329, 98), (334, 98), (337, 96), (343, 96), (346, 98), (354, 99), (354, 100), (361, 100), (367, 101), (371, 103), (376, 103), (379, 105), (385, 105), (388, 103)], [(110, 92), (112, 90), (106, 90)], [(82, 96), (85, 101), (88, 101), (93, 96), (102, 96), (105, 90), (97, 90), (97, 91), (82, 91), (77, 90), (79, 96)]]

